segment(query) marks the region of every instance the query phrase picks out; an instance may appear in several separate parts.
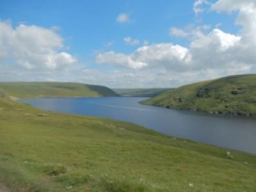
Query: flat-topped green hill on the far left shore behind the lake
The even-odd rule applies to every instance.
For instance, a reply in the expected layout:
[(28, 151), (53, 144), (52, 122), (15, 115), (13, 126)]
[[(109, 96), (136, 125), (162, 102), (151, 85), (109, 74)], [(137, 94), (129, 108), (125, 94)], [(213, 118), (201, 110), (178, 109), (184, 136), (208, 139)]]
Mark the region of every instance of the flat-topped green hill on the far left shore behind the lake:
[(0, 88), (13, 97), (101, 97), (117, 96), (115, 92), (105, 86), (81, 83), (0, 83)]

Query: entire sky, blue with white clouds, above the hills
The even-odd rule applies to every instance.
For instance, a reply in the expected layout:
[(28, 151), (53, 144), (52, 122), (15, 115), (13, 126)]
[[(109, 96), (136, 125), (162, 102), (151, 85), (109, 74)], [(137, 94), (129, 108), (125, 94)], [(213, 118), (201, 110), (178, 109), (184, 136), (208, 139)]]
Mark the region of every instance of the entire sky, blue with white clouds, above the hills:
[(171, 88), (256, 72), (255, 0), (1, 0), (0, 81)]

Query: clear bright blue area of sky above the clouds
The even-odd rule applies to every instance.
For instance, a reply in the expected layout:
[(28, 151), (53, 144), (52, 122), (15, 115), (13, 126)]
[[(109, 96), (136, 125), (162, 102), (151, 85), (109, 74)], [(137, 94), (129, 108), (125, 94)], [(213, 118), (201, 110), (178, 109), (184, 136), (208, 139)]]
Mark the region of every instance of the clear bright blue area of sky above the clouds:
[[(70, 46), (70, 52), (86, 59), (93, 51), (105, 49), (103, 42), (114, 41), (112, 49), (131, 52), (134, 47), (125, 46), (124, 36), (132, 36), (152, 43), (175, 42), (184, 44), (179, 38), (172, 38), (169, 30), (172, 26), (182, 28), (189, 24), (198, 24), (197, 20), (215, 26), (223, 23), (221, 28), (234, 32), (235, 17), (210, 12), (195, 16), (194, 0), (152, 0), (152, 1), (1, 1), (1, 20), (12, 20), (13, 26), (20, 22), (44, 28), (59, 26)], [(118, 24), (116, 17), (128, 13), (129, 24)]]

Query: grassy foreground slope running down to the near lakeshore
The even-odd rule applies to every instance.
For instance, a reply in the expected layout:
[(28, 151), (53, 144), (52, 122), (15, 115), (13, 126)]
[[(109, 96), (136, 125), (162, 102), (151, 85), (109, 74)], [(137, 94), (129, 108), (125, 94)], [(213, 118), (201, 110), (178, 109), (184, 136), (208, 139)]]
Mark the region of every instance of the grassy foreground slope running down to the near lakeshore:
[(229, 159), (223, 148), (4, 98), (0, 146), (0, 181), (12, 191), (255, 190), (255, 155)]

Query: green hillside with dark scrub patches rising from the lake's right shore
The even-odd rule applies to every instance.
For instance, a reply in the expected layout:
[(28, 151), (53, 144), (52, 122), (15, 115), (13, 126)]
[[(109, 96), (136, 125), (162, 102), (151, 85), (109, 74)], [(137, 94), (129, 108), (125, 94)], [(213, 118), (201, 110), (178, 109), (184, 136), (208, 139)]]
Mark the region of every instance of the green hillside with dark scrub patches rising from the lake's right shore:
[(256, 75), (228, 76), (188, 84), (142, 102), (173, 109), (256, 115)]

